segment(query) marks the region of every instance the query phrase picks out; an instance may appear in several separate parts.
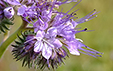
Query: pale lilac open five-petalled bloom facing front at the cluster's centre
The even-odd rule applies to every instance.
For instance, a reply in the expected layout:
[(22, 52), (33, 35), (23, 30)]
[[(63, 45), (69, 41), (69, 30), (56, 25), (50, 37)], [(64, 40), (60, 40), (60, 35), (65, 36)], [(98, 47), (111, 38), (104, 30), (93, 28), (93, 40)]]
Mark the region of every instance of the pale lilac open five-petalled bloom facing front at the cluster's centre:
[(47, 30), (47, 33), (44, 31), (38, 31), (36, 35), (37, 42), (34, 46), (35, 52), (42, 52), (42, 56), (49, 60), (52, 56), (52, 50), (62, 47), (62, 43), (56, 39), (57, 29), (51, 27)]

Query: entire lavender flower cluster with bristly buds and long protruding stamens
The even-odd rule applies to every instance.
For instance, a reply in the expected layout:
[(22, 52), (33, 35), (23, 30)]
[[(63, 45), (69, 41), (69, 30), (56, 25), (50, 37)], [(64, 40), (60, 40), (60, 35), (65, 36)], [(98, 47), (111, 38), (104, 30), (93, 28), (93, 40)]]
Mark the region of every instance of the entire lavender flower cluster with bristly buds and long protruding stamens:
[[(87, 28), (78, 30), (76, 26), (96, 17), (93, 10), (83, 18), (76, 18), (76, 11), (68, 14), (58, 12), (62, 4), (81, 1), (77, 0), (1, 0), (0, 19), (3, 17), (11, 19), (14, 13), (21, 16), (28, 24), (32, 24), (33, 32), (26, 31), (18, 36), (20, 42), (15, 41), (13, 54), (15, 59), (23, 60), (23, 66), (36, 68), (57, 68), (68, 56), (65, 48), (73, 55), (80, 53), (101, 57), (101, 52), (84, 45), (75, 34), (87, 31)], [(5, 4), (8, 5), (5, 6)], [(85, 48), (83, 48), (85, 47)]]

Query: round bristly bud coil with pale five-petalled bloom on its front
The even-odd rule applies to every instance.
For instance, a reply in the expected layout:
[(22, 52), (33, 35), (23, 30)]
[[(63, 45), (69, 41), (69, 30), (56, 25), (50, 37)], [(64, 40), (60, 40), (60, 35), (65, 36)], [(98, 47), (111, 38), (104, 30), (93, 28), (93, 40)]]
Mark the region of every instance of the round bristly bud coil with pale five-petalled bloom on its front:
[(38, 31), (36, 36), (31, 31), (21, 33), (20, 41), (12, 45), (15, 59), (23, 60), (22, 66), (43, 69), (45, 67), (57, 68), (66, 56), (62, 43), (56, 39), (57, 30), (54, 27), (48, 29), (47, 33)]

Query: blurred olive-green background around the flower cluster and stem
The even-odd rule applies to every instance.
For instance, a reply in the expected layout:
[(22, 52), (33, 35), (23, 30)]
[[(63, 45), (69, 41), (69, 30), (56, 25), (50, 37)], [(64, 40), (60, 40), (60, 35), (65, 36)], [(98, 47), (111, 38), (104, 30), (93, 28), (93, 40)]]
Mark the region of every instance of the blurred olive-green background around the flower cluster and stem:
[[(75, 3), (66, 4), (61, 8), (66, 12), (74, 5)], [(78, 26), (95, 31), (78, 33), (76, 36), (82, 39), (87, 46), (104, 54), (102, 58), (98, 59), (84, 54), (80, 56), (69, 54), (70, 57), (64, 60), (65, 65), (62, 64), (56, 71), (113, 71), (113, 0), (82, 0), (73, 11), (76, 9), (79, 9), (77, 11), (79, 18), (87, 15), (93, 9), (100, 11), (97, 18)], [(13, 26), (16, 27), (12, 27), (11, 32), (14, 32), (20, 26), (20, 18), (16, 17), (15, 22), (16, 24)], [(3, 35), (0, 35), (0, 41), (2, 37)], [(11, 50), (12, 47), (9, 46), (0, 60), (0, 71), (39, 71), (21, 67), (20, 61), (13, 60)]]

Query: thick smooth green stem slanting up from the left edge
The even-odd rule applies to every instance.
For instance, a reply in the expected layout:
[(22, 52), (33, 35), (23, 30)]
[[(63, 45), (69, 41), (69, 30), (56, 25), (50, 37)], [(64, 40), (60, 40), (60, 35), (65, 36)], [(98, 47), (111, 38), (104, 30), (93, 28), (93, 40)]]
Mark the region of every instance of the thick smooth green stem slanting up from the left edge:
[(0, 45), (0, 58), (2, 57), (6, 48), (16, 39), (17, 34), (20, 34), (22, 30), (25, 30), (26, 26), (27, 22), (23, 21), (23, 24)]

